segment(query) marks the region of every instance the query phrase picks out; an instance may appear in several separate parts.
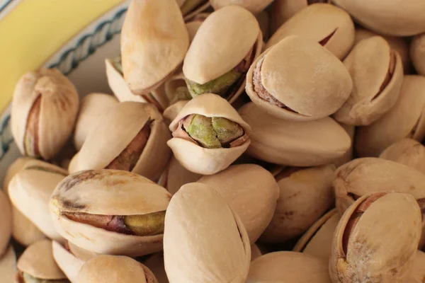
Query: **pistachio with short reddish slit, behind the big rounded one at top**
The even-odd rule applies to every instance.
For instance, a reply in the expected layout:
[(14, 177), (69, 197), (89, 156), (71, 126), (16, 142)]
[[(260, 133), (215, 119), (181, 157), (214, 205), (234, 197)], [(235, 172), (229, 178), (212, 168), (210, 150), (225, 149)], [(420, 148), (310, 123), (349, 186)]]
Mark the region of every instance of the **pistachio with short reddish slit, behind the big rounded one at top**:
[(276, 30), (266, 48), (289, 35), (319, 42), (338, 59), (344, 59), (353, 47), (354, 24), (350, 15), (331, 4), (313, 4), (303, 8)]

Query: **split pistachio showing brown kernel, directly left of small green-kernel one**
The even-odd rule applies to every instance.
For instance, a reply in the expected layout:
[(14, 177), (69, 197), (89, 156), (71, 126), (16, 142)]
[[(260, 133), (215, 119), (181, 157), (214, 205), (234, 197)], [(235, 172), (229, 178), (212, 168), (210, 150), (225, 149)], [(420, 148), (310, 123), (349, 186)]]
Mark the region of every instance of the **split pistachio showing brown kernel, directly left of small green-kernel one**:
[(128, 101), (118, 103), (99, 119), (69, 172), (106, 168), (157, 180), (169, 159), (166, 141), (171, 137), (157, 108)]

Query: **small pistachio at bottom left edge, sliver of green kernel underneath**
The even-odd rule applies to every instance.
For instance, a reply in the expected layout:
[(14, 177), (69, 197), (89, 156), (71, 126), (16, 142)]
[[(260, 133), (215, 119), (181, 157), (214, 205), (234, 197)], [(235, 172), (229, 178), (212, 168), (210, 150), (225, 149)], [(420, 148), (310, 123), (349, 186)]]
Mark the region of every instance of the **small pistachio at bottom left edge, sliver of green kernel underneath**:
[(41, 240), (26, 248), (17, 267), (16, 282), (19, 283), (69, 283), (53, 258), (50, 240)]

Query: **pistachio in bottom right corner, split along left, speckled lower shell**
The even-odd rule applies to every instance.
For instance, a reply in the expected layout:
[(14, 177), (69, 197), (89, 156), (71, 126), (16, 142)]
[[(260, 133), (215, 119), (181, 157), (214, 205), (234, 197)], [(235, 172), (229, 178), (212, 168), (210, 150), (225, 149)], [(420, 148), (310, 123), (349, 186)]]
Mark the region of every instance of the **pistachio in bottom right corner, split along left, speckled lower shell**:
[(332, 282), (405, 282), (421, 222), (412, 195), (375, 192), (356, 200), (336, 227), (329, 260)]

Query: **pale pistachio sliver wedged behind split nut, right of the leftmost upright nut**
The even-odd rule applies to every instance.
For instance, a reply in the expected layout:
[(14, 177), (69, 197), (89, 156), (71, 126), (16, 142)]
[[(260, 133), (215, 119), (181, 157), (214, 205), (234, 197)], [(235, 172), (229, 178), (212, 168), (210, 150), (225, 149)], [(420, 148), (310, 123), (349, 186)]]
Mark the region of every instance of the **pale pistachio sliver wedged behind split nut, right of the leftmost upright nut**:
[(79, 114), (74, 130), (74, 146), (79, 151), (86, 137), (98, 122), (98, 117), (118, 104), (113, 96), (103, 93), (89, 93), (81, 99)]

